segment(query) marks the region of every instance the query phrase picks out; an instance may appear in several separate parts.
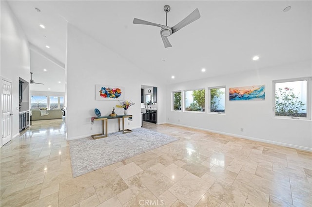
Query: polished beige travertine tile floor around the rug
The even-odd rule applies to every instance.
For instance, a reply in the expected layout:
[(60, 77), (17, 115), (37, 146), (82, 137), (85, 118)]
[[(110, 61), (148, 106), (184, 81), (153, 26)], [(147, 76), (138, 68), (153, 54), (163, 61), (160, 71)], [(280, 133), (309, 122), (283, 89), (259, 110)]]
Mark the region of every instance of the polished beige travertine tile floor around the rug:
[(312, 153), (169, 124), (179, 140), (72, 178), (64, 120), (0, 149), (1, 207), (312, 206)]

